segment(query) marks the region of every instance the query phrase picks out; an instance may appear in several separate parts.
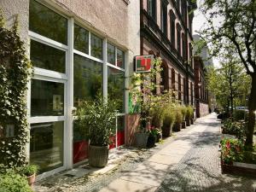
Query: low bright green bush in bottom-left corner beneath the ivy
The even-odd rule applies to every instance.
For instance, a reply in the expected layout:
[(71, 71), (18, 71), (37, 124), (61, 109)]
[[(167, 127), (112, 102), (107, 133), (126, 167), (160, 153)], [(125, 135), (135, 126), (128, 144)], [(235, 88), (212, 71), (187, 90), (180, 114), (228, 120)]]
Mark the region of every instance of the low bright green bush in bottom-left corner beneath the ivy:
[(16, 172), (6, 172), (0, 174), (1, 192), (32, 192), (26, 178)]

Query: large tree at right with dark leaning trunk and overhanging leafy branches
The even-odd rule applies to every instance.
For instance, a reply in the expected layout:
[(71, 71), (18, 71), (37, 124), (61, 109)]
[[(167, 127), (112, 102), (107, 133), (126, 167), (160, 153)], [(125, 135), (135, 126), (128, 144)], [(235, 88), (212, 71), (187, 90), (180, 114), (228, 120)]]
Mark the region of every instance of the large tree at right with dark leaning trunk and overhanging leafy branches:
[(207, 18), (201, 37), (212, 46), (212, 55), (234, 45), (234, 51), (251, 77), (246, 145), (252, 148), (256, 110), (256, 1), (206, 0), (200, 10)]

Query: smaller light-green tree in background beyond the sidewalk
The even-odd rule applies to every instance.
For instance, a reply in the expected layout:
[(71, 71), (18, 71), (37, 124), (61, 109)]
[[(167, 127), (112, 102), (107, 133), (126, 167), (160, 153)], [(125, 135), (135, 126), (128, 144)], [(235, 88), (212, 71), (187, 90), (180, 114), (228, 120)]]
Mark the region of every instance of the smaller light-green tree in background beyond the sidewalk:
[(215, 94), (218, 104), (233, 113), (235, 100), (247, 96), (250, 81), (236, 55), (224, 54), (220, 66), (208, 69), (208, 89)]

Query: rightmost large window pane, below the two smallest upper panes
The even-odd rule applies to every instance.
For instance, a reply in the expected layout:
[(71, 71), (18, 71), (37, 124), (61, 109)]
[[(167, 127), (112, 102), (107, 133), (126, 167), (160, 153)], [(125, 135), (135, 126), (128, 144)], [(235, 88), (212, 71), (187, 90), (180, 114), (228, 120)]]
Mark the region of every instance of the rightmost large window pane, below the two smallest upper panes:
[(124, 112), (125, 73), (108, 67), (108, 97), (118, 104), (119, 113)]

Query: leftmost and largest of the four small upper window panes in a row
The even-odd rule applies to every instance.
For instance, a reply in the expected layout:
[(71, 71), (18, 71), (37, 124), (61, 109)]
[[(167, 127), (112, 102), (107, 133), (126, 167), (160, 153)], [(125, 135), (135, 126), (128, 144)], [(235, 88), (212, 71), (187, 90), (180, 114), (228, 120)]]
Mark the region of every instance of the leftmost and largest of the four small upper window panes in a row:
[(89, 54), (89, 32), (81, 26), (74, 25), (74, 49)]

